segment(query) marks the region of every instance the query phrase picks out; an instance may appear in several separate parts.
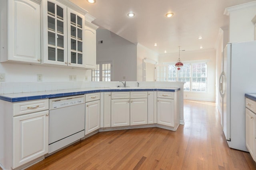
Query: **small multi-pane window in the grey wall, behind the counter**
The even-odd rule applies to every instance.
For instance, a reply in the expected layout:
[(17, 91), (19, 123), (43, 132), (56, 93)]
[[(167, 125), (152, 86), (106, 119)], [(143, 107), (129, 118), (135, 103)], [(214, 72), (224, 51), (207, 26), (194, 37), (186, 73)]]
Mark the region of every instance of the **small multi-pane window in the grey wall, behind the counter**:
[(112, 61), (97, 62), (97, 68), (92, 70), (92, 81), (112, 81)]

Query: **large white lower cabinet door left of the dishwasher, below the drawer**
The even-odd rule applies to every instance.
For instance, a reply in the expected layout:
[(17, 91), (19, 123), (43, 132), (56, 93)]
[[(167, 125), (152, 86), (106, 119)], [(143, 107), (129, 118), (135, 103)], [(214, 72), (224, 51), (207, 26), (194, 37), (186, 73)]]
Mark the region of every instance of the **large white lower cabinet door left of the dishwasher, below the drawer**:
[(14, 117), (13, 167), (48, 153), (49, 111)]

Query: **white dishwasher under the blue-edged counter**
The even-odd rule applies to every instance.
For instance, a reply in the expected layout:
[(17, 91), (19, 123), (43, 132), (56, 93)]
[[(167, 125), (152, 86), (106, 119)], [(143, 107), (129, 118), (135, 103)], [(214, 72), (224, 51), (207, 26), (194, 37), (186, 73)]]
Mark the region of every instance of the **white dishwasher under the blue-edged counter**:
[(85, 95), (49, 100), (49, 152), (84, 137)]

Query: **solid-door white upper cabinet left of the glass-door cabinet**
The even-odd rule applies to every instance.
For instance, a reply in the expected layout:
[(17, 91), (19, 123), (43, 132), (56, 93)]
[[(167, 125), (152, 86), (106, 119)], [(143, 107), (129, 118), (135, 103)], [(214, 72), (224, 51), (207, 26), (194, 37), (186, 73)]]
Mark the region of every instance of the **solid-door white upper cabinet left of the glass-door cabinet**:
[(0, 13), (1, 62), (41, 63), (40, 4), (1, 0)]

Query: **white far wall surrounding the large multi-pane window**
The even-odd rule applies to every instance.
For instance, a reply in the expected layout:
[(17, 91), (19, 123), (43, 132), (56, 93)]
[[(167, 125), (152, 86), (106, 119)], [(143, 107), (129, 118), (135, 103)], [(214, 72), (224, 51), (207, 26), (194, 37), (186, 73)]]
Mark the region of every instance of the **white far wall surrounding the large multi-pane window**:
[[(205, 100), (215, 101), (215, 80), (216, 80), (216, 51), (211, 50), (198, 50), (198, 51), (184, 51), (180, 53), (182, 62), (208, 60), (208, 75), (207, 75), (207, 92), (186, 92), (184, 91), (184, 99), (190, 100)], [(178, 53), (159, 55), (159, 64), (176, 62)]]

